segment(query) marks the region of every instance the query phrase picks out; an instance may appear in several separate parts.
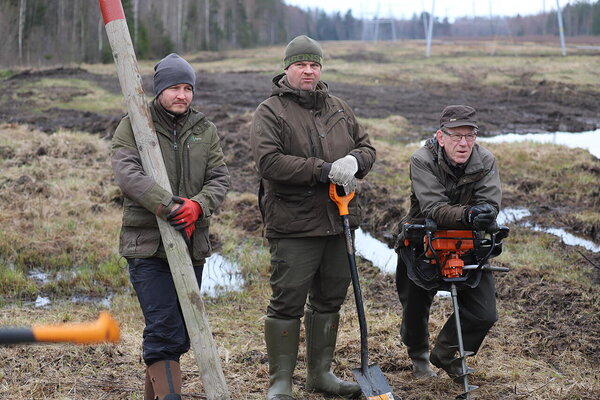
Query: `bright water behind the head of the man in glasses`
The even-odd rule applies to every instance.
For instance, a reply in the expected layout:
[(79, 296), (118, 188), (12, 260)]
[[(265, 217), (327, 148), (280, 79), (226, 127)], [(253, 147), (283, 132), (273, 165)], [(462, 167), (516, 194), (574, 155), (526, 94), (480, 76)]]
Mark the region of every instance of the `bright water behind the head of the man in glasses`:
[(567, 147), (577, 147), (588, 150), (596, 158), (600, 158), (600, 129), (589, 132), (554, 132), (554, 133), (507, 133), (494, 137), (481, 137), (477, 141), (500, 143), (500, 142), (537, 142), (554, 143)]

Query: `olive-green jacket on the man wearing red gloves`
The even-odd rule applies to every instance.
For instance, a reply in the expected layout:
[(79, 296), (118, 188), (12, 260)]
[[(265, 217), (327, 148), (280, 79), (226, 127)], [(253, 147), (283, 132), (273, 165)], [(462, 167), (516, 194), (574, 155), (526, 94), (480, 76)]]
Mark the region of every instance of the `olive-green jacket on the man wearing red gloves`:
[[(152, 102), (150, 113), (172, 193), (195, 200), (202, 208), (190, 249), (192, 261), (200, 264), (210, 255), (210, 216), (225, 199), (229, 188), (229, 171), (217, 129), (202, 113), (193, 109), (175, 119)], [(121, 120), (113, 137), (112, 167), (125, 197), (120, 254), (123, 257), (165, 258), (156, 213), (161, 204), (165, 207), (172, 204), (172, 195), (144, 172), (127, 116)]]

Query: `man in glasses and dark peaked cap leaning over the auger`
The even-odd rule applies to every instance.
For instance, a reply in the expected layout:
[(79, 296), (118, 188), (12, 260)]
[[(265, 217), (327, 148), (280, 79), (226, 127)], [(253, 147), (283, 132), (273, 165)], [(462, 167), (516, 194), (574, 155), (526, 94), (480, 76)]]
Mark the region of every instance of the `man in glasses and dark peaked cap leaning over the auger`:
[[(461, 383), (463, 377), (471, 372), (464, 364), (465, 354), (477, 353), (487, 332), (498, 319), (494, 277), (489, 270), (482, 268), (491, 251), (485, 260), (467, 261), (479, 266), (472, 266), (475, 270), (469, 271), (465, 277), (441, 280), (437, 269), (427, 276), (427, 267), (444, 264), (445, 259), (440, 262), (437, 255), (426, 259), (421, 234), (420, 254), (423, 257), (419, 263), (419, 255), (412, 257), (408, 251), (409, 238), (406, 237), (406, 228), (403, 229), (417, 226), (409, 224), (426, 224), (428, 221), (441, 229), (448, 229), (444, 232), (463, 230), (459, 232), (469, 235), (472, 232), (473, 237), (477, 237), (496, 226), (502, 197), (498, 167), (494, 155), (476, 143), (477, 132), (474, 108), (448, 106), (441, 114), (440, 129), (435, 137), (428, 139), (410, 160), (411, 206), (402, 221), (397, 241), (396, 287), (402, 303), (400, 333), (417, 378), (436, 376), (430, 367), (431, 361)], [(456, 240), (453, 246), (460, 246), (461, 242), (463, 240)], [(470, 243), (477, 244), (478, 241), (475, 239)], [(477, 245), (473, 247), (477, 248)], [(436, 253), (432, 246), (425, 245), (425, 248), (429, 254), (430, 250)], [(453, 249), (451, 247), (450, 252)], [(454, 280), (460, 282), (454, 285)], [(439, 333), (430, 355), (429, 309), (437, 290), (448, 290), (447, 286), (444, 287), (444, 283), (448, 282), (459, 288), (455, 310), (460, 305), (458, 325), (462, 324), (462, 338), (454, 313)], [(461, 349), (460, 354), (458, 345), (463, 339), (464, 351)]]

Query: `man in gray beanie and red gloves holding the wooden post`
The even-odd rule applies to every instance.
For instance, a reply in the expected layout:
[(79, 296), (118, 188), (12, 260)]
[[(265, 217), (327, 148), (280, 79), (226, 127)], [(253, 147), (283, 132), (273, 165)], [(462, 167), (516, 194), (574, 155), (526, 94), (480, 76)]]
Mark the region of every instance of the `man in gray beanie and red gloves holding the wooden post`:
[(190, 348), (156, 216), (181, 231), (201, 286), (211, 251), (210, 216), (229, 188), (217, 129), (191, 108), (195, 84), (194, 69), (177, 54), (154, 67), (149, 108), (172, 194), (145, 173), (128, 116), (112, 142), (112, 167), (124, 198), (119, 253), (127, 259), (146, 321), (144, 400), (181, 399), (179, 358)]

